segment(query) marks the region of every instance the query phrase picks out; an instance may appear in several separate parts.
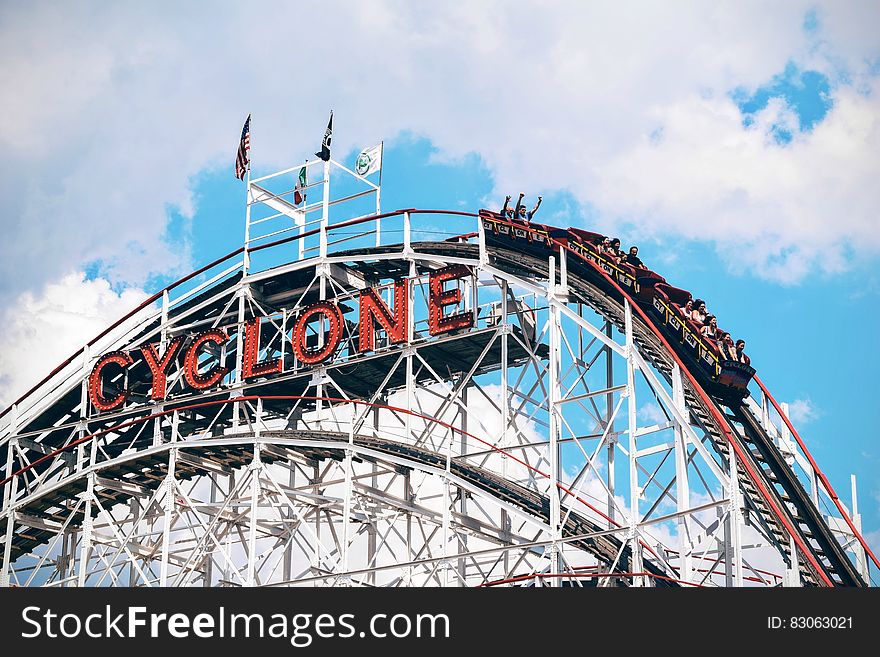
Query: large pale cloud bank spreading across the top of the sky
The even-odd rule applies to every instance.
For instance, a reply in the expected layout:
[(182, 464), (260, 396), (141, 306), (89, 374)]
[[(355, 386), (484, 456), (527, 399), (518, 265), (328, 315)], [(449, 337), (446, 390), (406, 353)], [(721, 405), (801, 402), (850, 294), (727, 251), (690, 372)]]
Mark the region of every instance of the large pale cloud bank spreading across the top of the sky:
[[(840, 270), (880, 249), (880, 16), (829, 3), (811, 35), (813, 6), (4, 5), (0, 306), (92, 260), (134, 285), (187, 267), (167, 210), (191, 213), (199, 172), (231, 174), (244, 116), (274, 167), (311, 153), (331, 106), (337, 153), (407, 131), (479, 153), (499, 190), (569, 191), (601, 225), (715, 241), (734, 269)], [(780, 146), (790, 109), (745, 128), (728, 94), (788, 61), (832, 76), (834, 104)]]

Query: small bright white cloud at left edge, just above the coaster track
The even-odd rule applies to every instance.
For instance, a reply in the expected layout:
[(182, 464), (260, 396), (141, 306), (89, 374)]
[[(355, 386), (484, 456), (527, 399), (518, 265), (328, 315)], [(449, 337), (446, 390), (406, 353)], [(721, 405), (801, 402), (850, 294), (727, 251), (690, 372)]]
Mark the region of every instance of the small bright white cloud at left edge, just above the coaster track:
[(0, 333), (0, 407), (12, 403), (77, 348), (133, 310), (146, 293), (114, 292), (103, 279), (82, 272), (24, 292), (2, 314)]

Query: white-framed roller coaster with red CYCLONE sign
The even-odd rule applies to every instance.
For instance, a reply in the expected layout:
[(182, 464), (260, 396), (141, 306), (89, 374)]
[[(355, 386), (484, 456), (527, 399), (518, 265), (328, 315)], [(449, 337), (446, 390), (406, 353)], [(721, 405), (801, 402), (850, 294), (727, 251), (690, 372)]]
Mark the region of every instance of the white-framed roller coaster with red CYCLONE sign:
[(0, 584), (871, 584), (855, 497), (689, 293), (307, 166), (320, 202), (248, 177), (242, 248), (0, 415)]

